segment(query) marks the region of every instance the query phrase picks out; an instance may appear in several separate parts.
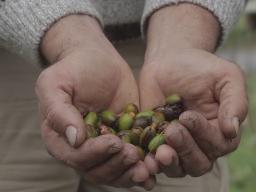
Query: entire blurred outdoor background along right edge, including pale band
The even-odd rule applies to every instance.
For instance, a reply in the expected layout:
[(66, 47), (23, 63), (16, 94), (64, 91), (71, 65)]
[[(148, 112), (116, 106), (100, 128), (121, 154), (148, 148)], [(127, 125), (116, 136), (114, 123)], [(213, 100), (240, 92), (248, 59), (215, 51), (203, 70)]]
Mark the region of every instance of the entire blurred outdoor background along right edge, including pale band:
[(256, 192), (256, 0), (249, 1), (244, 15), (216, 54), (241, 66), (249, 97), (241, 143), (227, 157), (230, 192)]

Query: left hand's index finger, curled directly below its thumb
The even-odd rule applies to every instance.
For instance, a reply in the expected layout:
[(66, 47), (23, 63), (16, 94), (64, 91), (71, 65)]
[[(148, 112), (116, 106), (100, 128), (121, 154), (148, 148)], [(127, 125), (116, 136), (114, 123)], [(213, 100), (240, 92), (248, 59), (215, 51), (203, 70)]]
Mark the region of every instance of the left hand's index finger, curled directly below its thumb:
[(64, 165), (81, 171), (102, 163), (123, 147), (122, 141), (111, 134), (85, 140), (78, 148), (71, 147), (46, 120), (42, 124), (42, 138), (49, 154)]

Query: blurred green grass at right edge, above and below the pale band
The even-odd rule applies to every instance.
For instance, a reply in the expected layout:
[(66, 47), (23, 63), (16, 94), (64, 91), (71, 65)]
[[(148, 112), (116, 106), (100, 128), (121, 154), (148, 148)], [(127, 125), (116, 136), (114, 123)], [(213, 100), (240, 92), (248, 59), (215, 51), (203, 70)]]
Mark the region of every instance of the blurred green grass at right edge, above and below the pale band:
[[(256, 30), (252, 29), (247, 16), (241, 17), (221, 49), (254, 49)], [(256, 54), (256, 52), (255, 52)], [(227, 157), (230, 174), (230, 192), (256, 191), (256, 61), (254, 71), (245, 74), (249, 97), (249, 111), (243, 123), (239, 148)]]

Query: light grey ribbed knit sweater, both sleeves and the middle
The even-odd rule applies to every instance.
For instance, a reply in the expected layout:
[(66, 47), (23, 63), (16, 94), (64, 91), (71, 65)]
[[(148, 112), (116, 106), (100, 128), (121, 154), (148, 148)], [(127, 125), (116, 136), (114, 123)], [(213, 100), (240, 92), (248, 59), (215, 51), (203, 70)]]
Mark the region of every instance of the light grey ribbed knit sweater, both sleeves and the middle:
[(223, 41), (247, 0), (0, 0), (0, 46), (40, 65), (41, 39), (61, 17), (90, 15), (106, 29), (140, 23), (141, 33), (145, 34), (148, 19), (155, 11), (180, 2), (195, 3), (212, 12), (221, 25)]

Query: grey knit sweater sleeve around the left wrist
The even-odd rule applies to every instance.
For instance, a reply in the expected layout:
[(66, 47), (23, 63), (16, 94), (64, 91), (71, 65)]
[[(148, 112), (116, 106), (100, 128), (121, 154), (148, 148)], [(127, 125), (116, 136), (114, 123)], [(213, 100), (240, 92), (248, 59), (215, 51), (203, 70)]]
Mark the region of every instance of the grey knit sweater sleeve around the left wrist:
[(86, 14), (101, 18), (89, 0), (0, 1), (0, 46), (39, 66), (39, 47), (44, 33), (61, 17)]

